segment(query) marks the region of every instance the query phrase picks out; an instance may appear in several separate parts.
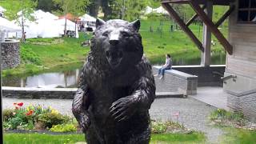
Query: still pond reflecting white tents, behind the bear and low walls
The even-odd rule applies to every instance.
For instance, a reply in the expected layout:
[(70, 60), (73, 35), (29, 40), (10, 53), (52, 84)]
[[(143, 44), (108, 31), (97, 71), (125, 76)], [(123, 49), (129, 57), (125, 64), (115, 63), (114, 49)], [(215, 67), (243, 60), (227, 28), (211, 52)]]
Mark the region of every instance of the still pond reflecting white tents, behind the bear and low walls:
[[(225, 64), (226, 56), (225, 54), (212, 54), (211, 62), (212, 64)], [(182, 65), (200, 65), (200, 56), (195, 58), (183, 57), (177, 58), (173, 57), (174, 66)], [(74, 88), (78, 85), (78, 76), (80, 74), (78, 66), (73, 70), (66, 71), (54, 71), (49, 73), (42, 73), (31, 75), (26, 78), (17, 78), (14, 76), (9, 76), (2, 78), (2, 86), (14, 86), (14, 87), (42, 87), (42, 88)]]

